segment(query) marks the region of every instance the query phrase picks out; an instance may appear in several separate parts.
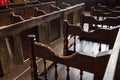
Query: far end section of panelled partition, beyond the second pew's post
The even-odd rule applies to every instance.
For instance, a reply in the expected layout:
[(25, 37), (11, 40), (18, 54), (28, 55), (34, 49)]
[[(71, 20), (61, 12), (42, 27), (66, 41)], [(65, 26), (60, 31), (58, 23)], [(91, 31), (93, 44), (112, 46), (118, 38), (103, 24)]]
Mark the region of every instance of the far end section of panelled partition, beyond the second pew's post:
[(64, 19), (68, 20), (72, 24), (78, 25), (79, 21), (80, 21), (79, 17), (81, 15), (81, 13), (84, 12), (84, 6), (85, 6), (85, 4), (81, 3), (81, 4), (78, 4), (78, 5), (71, 6), (71, 7), (68, 7), (66, 9), (63, 9)]

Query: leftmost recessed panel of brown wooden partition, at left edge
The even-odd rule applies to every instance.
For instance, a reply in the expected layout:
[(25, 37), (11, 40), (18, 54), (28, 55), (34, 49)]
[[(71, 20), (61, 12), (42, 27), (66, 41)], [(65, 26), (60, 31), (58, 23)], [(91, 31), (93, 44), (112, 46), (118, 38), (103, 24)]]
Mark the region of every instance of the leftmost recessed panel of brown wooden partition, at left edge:
[(0, 62), (3, 74), (5, 75), (14, 68), (13, 54), (11, 52), (11, 48), (8, 48), (10, 46), (8, 38), (1, 38), (0, 44)]

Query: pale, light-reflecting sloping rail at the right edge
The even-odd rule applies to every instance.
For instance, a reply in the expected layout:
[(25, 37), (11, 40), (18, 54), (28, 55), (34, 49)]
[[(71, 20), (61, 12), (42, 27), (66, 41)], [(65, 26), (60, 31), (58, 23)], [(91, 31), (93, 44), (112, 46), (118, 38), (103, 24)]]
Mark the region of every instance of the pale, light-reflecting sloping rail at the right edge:
[[(118, 71), (119, 71), (119, 41), (120, 41), (120, 30), (118, 32), (115, 44), (114, 44), (114, 51), (110, 56), (109, 62), (108, 62), (108, 66), (104, 75), (103, 80), (117, 80), (119, 79), (118, 76)], [(116, 68), (117, 67), (117, 68)], [(111, 73), (111, 74), (109, 74)]]

